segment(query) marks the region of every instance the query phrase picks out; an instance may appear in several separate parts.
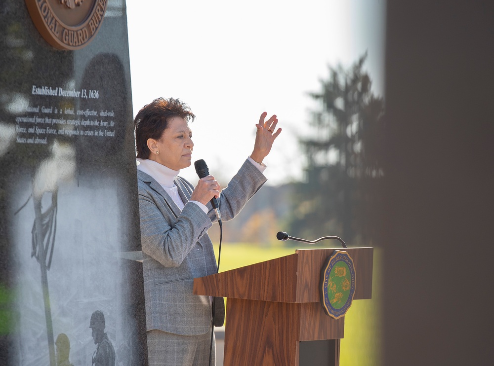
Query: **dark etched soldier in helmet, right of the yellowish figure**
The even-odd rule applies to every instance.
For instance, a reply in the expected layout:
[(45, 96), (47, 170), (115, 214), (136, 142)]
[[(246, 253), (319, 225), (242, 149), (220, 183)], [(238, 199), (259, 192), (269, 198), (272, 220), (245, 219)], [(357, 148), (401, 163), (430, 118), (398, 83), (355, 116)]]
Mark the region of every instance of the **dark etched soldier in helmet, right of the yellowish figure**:
[(108, 335), (104, 332), (105, 316), (100, 310), (92, 313), (89, 328), (92, 329), (94, 344), (98, 345), (92, 357), (92, 365), (115, 366), (115, 350)]

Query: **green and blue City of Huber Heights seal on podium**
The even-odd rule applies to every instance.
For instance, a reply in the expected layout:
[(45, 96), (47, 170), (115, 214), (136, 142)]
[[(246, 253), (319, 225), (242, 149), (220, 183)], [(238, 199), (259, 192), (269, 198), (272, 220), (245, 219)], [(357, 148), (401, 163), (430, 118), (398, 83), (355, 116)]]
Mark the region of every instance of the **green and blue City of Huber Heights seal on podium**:
[(355, 293), (355, 267), (347, 252), (334, 251), (321, 268), (321, 305), (327, 315), (341, 318), (352, 305)]

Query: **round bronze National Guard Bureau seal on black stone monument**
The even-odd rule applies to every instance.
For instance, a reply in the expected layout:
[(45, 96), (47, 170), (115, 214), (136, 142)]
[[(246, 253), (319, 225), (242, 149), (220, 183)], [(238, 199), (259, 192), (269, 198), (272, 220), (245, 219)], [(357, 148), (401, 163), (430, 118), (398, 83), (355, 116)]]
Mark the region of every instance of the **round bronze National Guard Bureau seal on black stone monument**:
[(26, 0), (38, 32), (53, 47), (81, 49), (98, 33), (108, 0)]

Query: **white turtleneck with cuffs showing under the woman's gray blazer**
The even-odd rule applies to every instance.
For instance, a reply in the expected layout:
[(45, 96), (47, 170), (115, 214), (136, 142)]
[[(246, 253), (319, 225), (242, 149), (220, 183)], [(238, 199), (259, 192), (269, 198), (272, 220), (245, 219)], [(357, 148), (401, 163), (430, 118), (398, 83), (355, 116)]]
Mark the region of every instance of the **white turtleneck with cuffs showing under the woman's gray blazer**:
[[(185, 207), (182, 198), (178, 194), (178, 188), (175, 185), (175, 176), (177, 176), (180, 171), (179, 170), (173, 170), (168, 167), (165, 167), (165, 165), (162, 165), (154, 160), (150, 159), (136, 159), (139, 164), (137, 165), (137, 169), (140, 170), (143, 173), (146, 173), (147, 175), (151, 176), (156, 182), (160, 183), (160, 185), (165, 189), (166, 193), (169, 194), (173, 202), (178, 206), (180, 211)], [(250, 161), (261, 173), (264, 172), (264, 169), (266, 169), (266, 166), (264, 164), (259, 164), (252, 160), (252, 158), (249, 156), (247, 158), (248, 161)], [(207, 214), (207, 207), (203, 205), (199, 201), (189, 201), (193, 202), (201, 209), (204, 211), (205, 214)]]

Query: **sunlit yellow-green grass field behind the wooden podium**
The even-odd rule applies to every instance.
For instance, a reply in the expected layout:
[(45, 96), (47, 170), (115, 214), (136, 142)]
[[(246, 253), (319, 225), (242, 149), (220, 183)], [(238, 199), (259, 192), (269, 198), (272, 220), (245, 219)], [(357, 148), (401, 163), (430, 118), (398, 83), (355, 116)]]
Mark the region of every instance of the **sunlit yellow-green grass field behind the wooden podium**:
[[(297, 248), (314, 248), (314, 246), (298, 246)], [(216, 245), (216, 256), (217, 250)], [(251, 244), (223, 243), (220, 272), (293, 253), (295, 253), (294, 247), (283, 244), (261, 247)], [(381, 364), (380, 256), (380, 251), (374, 249), (372, 299), (354, 301), (345, 315), (345, 337), (341, 340), (340, 366), (378, 366)]]

